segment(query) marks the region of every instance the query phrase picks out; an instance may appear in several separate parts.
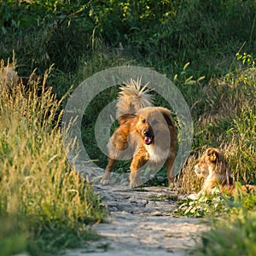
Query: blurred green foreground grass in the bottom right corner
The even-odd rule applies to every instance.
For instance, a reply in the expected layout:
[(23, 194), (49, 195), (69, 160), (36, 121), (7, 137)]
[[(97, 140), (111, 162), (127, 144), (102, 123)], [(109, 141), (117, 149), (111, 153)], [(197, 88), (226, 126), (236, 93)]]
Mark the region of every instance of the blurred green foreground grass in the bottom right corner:
[(200, 241), (190, 253), (253, 256), (256, 253), (255, 202), (255, 194), (241, 195), (239, 192), (235, 198), (225, 199), (228, 214), (218, 220), (212, 219), (211, 230), (201, 234)]

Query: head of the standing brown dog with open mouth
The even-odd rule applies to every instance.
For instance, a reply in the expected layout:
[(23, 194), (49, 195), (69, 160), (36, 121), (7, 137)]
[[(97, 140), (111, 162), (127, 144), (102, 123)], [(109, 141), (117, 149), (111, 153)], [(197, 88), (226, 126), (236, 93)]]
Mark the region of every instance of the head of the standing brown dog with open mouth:
[[(157, 144), (161, 146), (166, 141), (170, 147), (170, 133), (164, 111), (169, 110), (165, 108), (142, 108), (137, 112), (137, 131), (143, 137), (146, 145)], [(166, 113), (166, 115), (170, 114), (170, 112)]]

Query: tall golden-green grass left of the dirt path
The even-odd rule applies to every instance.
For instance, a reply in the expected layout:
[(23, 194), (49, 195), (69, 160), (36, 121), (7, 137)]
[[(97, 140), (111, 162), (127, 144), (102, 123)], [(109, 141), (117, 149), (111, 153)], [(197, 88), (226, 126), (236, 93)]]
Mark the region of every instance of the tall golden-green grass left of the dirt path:
[(88, 224), (105, 216), (90, 184), (67, 163), (56, 114), (61, 101), (44, 84), (41, 96), (37, 83), (29, 90), (14, 84), (12, 92), (1, 84), (1, 255), (78, 246), (97, 237)]

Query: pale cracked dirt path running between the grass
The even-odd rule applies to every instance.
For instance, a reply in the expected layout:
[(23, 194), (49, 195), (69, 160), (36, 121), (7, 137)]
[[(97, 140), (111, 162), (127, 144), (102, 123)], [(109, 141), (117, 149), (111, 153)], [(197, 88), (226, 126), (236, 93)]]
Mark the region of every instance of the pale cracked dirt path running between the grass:
[(170, 200), (175, 193), (166, 187), (95, 186), (95, 191), (110, 212), (108, 223), (93, 227), (105, 238), (67, 256), (184, 255), (195, 245), (195, 236), (207, 230), (199, 218), (170, 215), (177, 203)]

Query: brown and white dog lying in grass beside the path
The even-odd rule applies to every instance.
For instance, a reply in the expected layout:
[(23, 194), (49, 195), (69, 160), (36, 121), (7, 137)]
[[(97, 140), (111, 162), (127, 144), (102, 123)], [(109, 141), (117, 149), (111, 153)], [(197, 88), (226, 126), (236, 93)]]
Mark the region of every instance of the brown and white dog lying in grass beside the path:
[[(224, 152), (218, 148), (208, 148), (206, 150), (201, 156), (199, 164), (195, 166), (195, 174), (205, 179), (202, 189), (208, 194), (212, 193), (212, 189), (216, 188), (217, 184), (221, 192), (235, 193), (234, 177), (230, 172), (228, 163), (224, 160)], [(253, 185), (241, 186), (243, 193), (254, 189), (255, 186)]]

